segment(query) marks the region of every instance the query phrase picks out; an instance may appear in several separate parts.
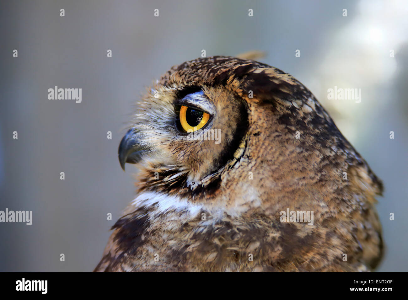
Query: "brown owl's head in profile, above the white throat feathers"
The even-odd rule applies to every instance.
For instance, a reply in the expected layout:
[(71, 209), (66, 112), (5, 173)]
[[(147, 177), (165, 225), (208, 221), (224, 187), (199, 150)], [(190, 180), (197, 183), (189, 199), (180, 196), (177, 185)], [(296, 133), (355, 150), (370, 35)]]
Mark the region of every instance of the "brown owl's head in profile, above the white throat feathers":
[(271, 198), (294, 185), (349, 184), (341, 174), (352, 166), (362, 189), (381, 191), (313, 94), (266, 64), (223, 56), (184, 62), (137, 107), (119, 160), (123, 169), (139, 164), (141, 189), (208, 195), (252, 176)]

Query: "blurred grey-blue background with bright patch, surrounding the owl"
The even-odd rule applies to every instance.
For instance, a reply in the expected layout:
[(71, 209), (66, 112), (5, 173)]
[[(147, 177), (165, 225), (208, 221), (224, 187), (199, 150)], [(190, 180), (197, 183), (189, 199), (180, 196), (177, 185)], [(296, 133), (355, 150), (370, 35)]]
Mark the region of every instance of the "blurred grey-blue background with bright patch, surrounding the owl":
[[(315, 94), (384, 180), (377, 209), (386, 255), (378, 270), (408, 271), (406, 1), (0, 5), (0, 210), (33, 211), (31, 226), (0, 223), (0, 271), (93, 270), (109, 228), (134, 198), (136, 170), (120, 169), (117, 149), (135, 100), (172, 65), (201, 56), (202, 49), (207, 56), (265, 51), (262, 62)], [(82, 103), (48, 100), (55, 85), (82, 88)], [(361, 103), (328, 100), (334, 86), (361, 88)]]

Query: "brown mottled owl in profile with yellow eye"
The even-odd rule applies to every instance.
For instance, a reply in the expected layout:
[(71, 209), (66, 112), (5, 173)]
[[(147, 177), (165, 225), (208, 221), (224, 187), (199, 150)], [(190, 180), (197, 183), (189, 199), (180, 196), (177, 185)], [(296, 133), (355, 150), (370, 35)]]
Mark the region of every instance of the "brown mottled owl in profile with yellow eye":
[(135, 199), (95, 271), (371, 271), (382, 183), (313, 94), (214, 56), (172, 67), (119, 146)]

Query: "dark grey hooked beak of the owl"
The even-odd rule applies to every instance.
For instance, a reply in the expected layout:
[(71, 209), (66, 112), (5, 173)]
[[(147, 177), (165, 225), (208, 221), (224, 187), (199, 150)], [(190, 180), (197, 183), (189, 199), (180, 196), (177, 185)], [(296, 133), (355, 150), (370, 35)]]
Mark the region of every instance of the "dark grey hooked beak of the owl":
[(124, 135), (119, 144), (118, 157), (120, 167), (125, 170), (125, 163), (137, 164), (142, 158), (142, 154), (146, 151), (144, 147), (139, 145), (139, 140), (135, 137), (135, 131), (129, 129)]

